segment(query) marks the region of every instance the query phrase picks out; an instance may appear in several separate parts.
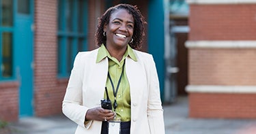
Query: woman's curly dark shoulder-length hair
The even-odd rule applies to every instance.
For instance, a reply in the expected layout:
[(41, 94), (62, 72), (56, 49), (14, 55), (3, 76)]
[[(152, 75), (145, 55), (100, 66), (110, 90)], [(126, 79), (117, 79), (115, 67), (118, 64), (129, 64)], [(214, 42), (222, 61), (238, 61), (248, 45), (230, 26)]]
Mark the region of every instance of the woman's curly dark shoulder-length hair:
[(133, 29), (133, 35), (132, 35), (132, 43), (129, 43), (130, 47), (133, 49), (141, 49), (143, 36), (144, 33), (144, 24), (145, 18), (142, 16), (141, 12), (139, 11), (137, 5), (129, 5), (129, 4), (118, 4), (114, 7), (110, 7), (106, 12), (98, 19), (98, 30), (96, 31), (96, 43), (98, 46), (101, 46), (102, 44), (106, 45), (106, 36), (103, 36), (104, 32), (104, 24), (109, 24), (109, 19), (111, 14), (113, 12), (124, 9), (129, 14), (131, 14), (134, 18), (134, 29)]

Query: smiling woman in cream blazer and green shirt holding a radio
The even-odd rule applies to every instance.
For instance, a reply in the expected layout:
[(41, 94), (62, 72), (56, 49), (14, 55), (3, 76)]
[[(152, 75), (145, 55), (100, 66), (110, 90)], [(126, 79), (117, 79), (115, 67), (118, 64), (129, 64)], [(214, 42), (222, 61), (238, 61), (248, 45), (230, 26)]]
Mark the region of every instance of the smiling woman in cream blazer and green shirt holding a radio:
[[(139, 52), (145, 20), (136, 6), (110, 7), (99, 19), (100, 48), (77, 54), (62, 110), (76, 133), (165, 133), (156, 66)], [(109, 96), (109, 110), (100, 106)]]

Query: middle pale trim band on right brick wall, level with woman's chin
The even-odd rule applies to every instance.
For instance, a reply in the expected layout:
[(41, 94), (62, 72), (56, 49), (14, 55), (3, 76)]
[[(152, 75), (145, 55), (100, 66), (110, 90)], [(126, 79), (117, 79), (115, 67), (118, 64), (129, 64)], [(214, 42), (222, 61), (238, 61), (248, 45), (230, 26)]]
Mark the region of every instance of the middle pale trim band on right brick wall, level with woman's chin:
[(256, 41), (186, 41), (186, 48), (256, 48)]

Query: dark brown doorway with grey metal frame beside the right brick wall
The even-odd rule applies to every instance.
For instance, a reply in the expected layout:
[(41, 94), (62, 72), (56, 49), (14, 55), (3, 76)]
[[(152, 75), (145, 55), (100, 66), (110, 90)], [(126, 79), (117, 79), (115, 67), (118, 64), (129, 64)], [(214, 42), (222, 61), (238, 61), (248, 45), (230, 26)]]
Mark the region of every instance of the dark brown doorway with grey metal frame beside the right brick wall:
[(172, 26), (170, 44), (166, 47), (166, 90), (169, 103), (175, 102), (177, 95), (186, 95), (188, 84), (188, 50), (185, 41), (188, 39), (188, 26)]

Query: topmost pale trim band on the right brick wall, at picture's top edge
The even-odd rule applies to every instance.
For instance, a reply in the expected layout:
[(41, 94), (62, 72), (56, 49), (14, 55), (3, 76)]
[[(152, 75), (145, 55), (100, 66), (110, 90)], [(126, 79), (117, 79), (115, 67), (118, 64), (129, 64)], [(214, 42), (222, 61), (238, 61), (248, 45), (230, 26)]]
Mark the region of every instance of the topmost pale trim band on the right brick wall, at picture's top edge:
[(255, 0), (186, 0), (188, 4), (252, 4)]

